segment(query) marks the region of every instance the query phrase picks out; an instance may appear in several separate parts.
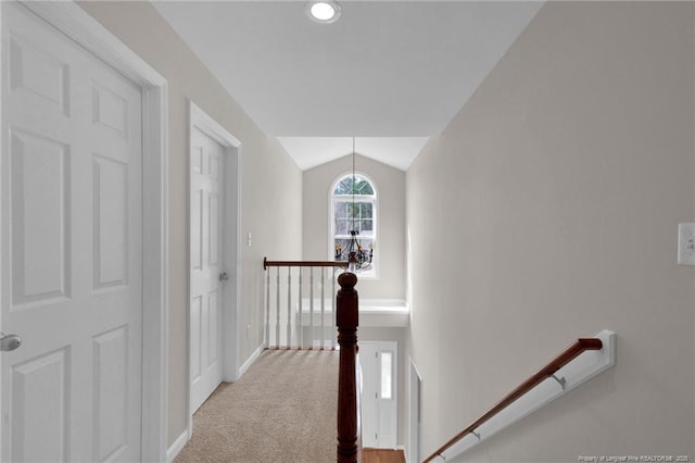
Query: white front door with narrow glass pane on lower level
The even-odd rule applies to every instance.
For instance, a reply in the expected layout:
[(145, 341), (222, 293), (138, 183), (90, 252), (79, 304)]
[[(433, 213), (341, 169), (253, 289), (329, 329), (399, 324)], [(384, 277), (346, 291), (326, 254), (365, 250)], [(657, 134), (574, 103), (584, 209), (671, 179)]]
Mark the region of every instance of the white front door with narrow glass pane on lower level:
[(393, 449), (397, 426), (397, 345), (392, 341), (359, 342), (362, 365), (362, 443)]

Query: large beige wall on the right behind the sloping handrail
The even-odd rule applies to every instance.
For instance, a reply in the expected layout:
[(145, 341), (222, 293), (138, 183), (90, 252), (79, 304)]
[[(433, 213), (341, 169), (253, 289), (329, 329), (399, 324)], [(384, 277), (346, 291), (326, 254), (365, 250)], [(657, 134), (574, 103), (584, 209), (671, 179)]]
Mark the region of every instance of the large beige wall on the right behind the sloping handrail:
[(617, 365), (465, 461), (690, 455), (693, 3), (547, 2), (407, 172), (424, 450), (578, 337)]

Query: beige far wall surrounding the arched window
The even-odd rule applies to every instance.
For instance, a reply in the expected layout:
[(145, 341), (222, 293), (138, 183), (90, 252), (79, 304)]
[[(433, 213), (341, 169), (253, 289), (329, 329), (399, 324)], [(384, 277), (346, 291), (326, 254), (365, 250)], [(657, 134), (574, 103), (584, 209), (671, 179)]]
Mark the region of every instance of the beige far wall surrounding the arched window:
[[(359, 280), (359, 297), (405, 299), (405, 173), (362, 155), (356, 157), (355, 166), (375, 182), (378, 202), (378, 277)], [(352, 155), (304, 172), (304, 260), (329, 258), (329, 190), (338, 177), (351, 172)]]

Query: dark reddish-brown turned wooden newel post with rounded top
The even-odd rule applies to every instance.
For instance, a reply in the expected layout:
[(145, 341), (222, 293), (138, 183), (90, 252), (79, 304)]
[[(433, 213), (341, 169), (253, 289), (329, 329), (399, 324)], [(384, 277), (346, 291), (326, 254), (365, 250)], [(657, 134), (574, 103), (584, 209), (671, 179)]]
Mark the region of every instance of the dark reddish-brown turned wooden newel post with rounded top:
[(340, 346), (338, 371), (338, 463), (357, 462), (357, 275), (345, 272), (338, 277), (336, 322)]

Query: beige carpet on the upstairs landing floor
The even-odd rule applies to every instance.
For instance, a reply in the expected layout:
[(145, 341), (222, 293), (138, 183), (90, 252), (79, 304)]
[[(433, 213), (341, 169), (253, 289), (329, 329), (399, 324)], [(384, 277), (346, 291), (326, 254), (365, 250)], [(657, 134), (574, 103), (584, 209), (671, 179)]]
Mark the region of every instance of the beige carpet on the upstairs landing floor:
[(174, 462), (334, 462), (338, 358), (263, 352), (195, 412), (193, 436)]

